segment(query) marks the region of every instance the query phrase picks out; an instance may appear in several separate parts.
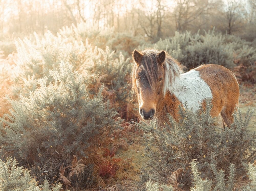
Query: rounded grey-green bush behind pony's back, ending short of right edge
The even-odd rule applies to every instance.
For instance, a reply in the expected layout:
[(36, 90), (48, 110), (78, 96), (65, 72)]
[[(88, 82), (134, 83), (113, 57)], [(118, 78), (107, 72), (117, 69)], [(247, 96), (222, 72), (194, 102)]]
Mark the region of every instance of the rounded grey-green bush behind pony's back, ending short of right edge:
[(192, 35), (190, 32), (175, 32), (175, 36), (159, 40), (154, 46), (166, 50), (187, 68), (202, 64), (218, 64), (233, 67), (233, 52), (224, 44), (225, 36), (208, 32)]

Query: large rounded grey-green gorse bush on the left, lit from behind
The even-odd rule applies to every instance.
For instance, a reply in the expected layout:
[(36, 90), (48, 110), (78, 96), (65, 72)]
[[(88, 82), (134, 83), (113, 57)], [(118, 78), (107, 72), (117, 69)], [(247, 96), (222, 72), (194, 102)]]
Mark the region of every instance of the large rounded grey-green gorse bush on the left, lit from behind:
[(54, 164), (53, 172), (60, 163), (69, 164), (73, 155), (88, 157), (89, 148), (111, 134), (116, 115), (102, 102), (101, 90), (89, 98), (83, 77), (70, 64), (61, 62), (59, 71), (49, 71), (53, 83), (44, 77), (29, 97), (11, 101), (0, 136), (2, 154), (42, 168)]

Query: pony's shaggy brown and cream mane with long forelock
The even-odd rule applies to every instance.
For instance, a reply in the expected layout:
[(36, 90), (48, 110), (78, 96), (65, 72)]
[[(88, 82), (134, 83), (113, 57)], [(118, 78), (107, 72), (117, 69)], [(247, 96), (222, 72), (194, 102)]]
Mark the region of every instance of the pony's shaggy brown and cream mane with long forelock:
[[(145, 49), (141, 51), (143, 55), (140, 66), (145, 72), (147, 80), (151, 87), (154, 87), (154, 84), (157, 82), (159, 74), (159, 64), (157, 64), (157, 54), (159, 50), (155, 49)], [(175, 77), (180, 77), (180, 74), (183, 73), (183, 70), (180, 67), (180, 63), (177, 62), (174, 58), (166, 53), (165, 63), (163, 64), (165, 68), (165, 81), (163, 82), (163, 95), (166, 94), (168, 89), (172, 86), (175, 81)], [(132, 91), (136, 92), (136, 68), (137, 64), (134, 63), (131, 76), (132, 76)]]

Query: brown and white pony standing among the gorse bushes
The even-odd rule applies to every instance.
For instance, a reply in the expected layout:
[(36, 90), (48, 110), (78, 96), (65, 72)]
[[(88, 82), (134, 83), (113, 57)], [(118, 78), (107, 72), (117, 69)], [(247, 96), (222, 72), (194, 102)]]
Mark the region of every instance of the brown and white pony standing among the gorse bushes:
[(239, 84), (236, 76), (221, 65), (207, 64), (186, 73), (180, 63), (165, 51), (134, 50), (131, 71), (132, 92), (139, 102), (139, 113), (144, 120), (155, 120), (158, 125), (167, 122), (167, 113), (179, 120), (179, 105), (196, 112), (206, 99), (211, 99), (212, 117), (222, 116), (229, 127), (238, 105)]

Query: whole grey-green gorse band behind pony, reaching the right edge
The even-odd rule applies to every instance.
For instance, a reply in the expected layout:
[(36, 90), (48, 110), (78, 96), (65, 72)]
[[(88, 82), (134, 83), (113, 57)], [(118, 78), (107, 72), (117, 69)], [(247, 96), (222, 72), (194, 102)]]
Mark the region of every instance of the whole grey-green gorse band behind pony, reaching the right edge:
[(204, 35), (190, 32), (175, 32), (175, 36), (160, 39), (154, 47), (166, 50), (188, 69), (202, 64), (218, 64), (233, 68), (240, 63), (251, 72), (256, 62), (255, 45), (234, 35), (215, 34), (214, 30)]

